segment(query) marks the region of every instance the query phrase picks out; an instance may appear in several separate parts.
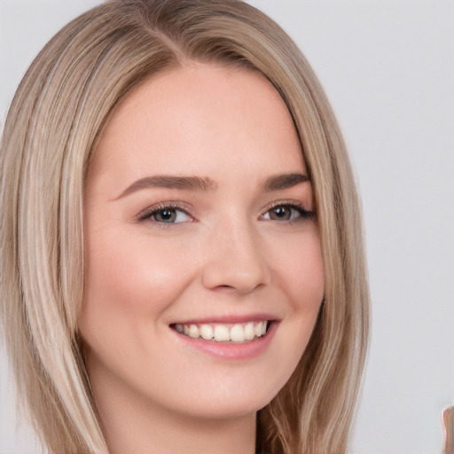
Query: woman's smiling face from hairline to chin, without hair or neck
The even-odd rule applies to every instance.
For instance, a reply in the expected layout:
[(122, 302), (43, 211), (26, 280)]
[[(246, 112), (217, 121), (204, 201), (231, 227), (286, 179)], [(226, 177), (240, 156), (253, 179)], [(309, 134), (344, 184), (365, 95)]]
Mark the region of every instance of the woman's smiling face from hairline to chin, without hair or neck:
[(286, 384), (324, 295), (307, 175), (261, 74), (194, 64), (125, 98), (84, 202), (80, 330), (101, 414), (120, 399), (235, 417)]

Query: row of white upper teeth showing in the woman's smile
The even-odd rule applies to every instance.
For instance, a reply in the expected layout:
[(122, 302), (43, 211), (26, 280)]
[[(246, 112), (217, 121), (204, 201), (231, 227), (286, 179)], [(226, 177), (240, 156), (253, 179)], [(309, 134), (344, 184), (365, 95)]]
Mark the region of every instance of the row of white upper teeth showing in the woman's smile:
[(177, 323), (175, 329), (178, 333), (182, 333), (193, 339), (202, 338), (218, 342), (245, 342), (247, 340), (253, 340), (255, 337), (261, 337), (266, 333), (267, 325), (268, 322), (266, 321), (235, 325), (183, 325)]

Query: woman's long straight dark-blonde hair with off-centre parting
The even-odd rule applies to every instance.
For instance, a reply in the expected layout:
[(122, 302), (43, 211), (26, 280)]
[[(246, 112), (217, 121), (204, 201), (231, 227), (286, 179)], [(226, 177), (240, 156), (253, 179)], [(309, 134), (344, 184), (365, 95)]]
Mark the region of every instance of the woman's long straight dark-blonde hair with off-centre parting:
[(117, 0), (64, 27), (20, 83), (1, 143), (1, 309), (20, 403), (55, 454), (106, 453), (77, 334), (83, 185), (121, 98), (187, 61), (253, 68), (294, 119), (324, 256), (325, 301), (292, 378), (258, 413), (257, 452), (342, 454), (364, 364), (368, 286), (340, 131), (296, 45), (239, 0)]

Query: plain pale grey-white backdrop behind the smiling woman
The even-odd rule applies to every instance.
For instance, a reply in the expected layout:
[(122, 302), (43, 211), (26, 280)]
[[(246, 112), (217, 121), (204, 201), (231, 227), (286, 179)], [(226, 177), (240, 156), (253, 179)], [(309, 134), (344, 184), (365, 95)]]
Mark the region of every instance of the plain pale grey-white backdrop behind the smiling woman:
[[(43, 44), (98, 3), (0, 0), (0, 121)], [(441, 453), (454, 404), (454, 2), (250, 3), (314, 67), (362, 194), (372, 343), (351, 450)], [(35, 454), (0, 355), (0, 453)]]

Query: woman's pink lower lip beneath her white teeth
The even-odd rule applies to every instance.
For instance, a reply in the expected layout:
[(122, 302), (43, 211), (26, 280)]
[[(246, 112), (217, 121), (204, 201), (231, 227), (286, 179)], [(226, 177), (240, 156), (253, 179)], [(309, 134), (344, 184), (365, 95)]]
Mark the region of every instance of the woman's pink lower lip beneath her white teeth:
[(189, 348), (198, 349), (208, 355), (218, 358), (235, 360), (235, 359), (250, 359), (260, 356), (269, 346), (274, 333), (278, 329), (278, 323), (270, 324), (268, 331), (254, 340), (248, 342), (216, 342), (215, 340), (192, 339), (174, 330), (178, 339), (184, 342)]

